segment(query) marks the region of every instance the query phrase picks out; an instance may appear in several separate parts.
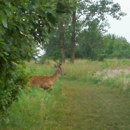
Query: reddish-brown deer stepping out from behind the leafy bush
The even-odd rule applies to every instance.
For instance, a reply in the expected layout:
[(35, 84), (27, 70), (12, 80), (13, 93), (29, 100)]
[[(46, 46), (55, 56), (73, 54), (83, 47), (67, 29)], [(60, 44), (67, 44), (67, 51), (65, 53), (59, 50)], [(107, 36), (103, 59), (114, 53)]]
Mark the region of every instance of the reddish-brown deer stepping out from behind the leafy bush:
[(60, 75), (66, 75), (66, 73), (61, 69), (61, 65), (55, 65), (55, 73), (52, 76), (32, 76), (30, 87), (39, 87), (44, 90), (52, 90), (54, 82), (58, 79)]

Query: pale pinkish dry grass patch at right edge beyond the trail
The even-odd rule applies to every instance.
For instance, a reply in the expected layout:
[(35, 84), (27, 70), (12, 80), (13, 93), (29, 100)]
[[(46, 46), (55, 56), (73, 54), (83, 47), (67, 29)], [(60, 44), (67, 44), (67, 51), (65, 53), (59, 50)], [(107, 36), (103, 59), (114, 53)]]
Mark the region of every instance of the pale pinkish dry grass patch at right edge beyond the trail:
[(104, 69), (97, 71), (95, 77), (101, 77), (101, 84), (127, 90), (130, 88), (130, 68)]

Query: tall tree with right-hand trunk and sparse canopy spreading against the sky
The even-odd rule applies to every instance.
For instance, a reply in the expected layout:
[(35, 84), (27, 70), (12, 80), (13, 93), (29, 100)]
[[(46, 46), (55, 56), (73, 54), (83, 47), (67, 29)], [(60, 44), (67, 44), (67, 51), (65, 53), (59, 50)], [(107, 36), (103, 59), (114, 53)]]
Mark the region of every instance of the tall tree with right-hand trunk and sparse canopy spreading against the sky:
[[(80, 23), (81, 29), (83, 27), (88, 27), (88, 23), (93, 20), (98, 20), (99, 26), (104, 31), (104, 27), (107, 26), (107, 15), (112, 16), (119, 20), (122, 16), (125, 15), (121, 11), (121, 7), (118, 3), (113, 3), (111, 0), (100, 0), (100, 1), (92, 1), (92, 0), (83, 0), (77, 2), (79, 7), (75, 10), (76, 11), (76, 20), (74, 20), (74, 15), (72, 16), (72, 30), (75, 31), (72, 33), (72, 37), (74, 36), (76, 39), (77, 33), (76, 32), (76, 24), (77, 22)], [(82, 19), (82, 20), (81, 20)], [(76, 34), (76, 35), (75, 35)], [(75, 40), (76, 43), (76, 40)], [(74, 41), (72, 40), (71, 44), (71, 53), (73, 54), (71, 57), (71, 62), (74, 63)]]

